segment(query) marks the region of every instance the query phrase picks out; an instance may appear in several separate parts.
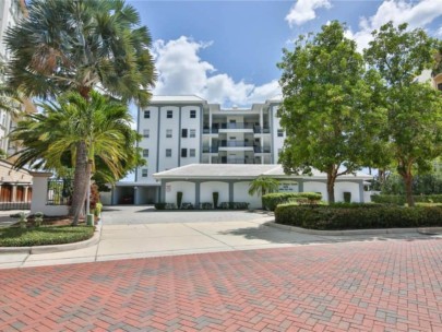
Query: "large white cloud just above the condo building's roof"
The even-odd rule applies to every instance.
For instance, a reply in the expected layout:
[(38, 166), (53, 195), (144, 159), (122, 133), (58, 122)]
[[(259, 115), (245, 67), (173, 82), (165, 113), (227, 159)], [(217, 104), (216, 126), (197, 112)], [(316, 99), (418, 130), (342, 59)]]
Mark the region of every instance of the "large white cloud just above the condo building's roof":
[(216, 73), (213, 64), (203, 61), (199, 51), (211, 44), (181, 36), (176, 40), (154, 43), (154, 56), (159, 79), (156, 95), (198, 95), (208, 103), (250, 105), (280, 94), (277, 81), (255, 86), (235, 82), (225, 73)]

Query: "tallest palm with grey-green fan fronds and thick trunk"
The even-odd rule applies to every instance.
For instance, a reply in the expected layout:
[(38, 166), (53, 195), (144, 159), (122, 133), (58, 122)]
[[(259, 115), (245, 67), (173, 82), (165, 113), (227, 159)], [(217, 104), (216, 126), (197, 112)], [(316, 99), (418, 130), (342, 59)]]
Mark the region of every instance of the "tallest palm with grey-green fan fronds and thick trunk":
[[(156, 80), (152, 39), (133, 7), (122, 0), (32, 0), (27, 12), (5, 37), (12, 88), (40, 98), (76, 91), (88, 100), (99, 87), (122, 102), (148, 103)], [(71, 206), (75, 221), (92, 165), (86, 144), (76, 144)]]

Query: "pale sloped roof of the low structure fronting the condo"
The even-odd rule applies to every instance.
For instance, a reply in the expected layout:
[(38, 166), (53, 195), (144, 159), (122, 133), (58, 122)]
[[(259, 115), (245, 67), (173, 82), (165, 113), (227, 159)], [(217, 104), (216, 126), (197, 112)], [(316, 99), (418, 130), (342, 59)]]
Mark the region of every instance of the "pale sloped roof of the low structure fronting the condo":
[[(271, 176), (275, 178), (316, 178), (326, 179), (325, 173), (318, 169), (312, 175), (286, 175), (280, 165), (242, 165), (242, 164), (190, 164), (165, 171), (154, 174), (156, 179), (201, 179), (201, 178), (225, 178), (225, 179), (253, 179), (259, 176)], [(344, 175), (338, 179), (372, 179), (373, 177), (358, 171), (356, 175)]]

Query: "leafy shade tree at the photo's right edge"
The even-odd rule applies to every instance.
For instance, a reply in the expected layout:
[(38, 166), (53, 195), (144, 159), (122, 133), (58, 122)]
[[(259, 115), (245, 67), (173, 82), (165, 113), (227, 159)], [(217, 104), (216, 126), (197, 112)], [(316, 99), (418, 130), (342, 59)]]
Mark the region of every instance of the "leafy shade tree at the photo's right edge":
[(385, 133), (390, 154), (405, 183), (408, 205), (414, 205), (414, 171), (428, 171), (442, 152), (442, 96), (417, 76), (438, 68), (438, 42), (420, 28), (392, 22), (373, 32), (365, 58), (379, 71), (387, 107)]

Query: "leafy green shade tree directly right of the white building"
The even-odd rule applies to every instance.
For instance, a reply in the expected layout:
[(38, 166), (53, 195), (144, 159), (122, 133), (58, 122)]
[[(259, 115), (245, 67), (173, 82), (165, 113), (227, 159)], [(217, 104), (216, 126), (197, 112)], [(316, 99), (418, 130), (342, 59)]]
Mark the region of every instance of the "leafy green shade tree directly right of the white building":
[(384, 114), (377, 103), (379, 75), (366, 72), (356, 44), (344, 26), (332, 22), (316, 35), (301, 36), (284, 49), (278, 110), (287, 138), (279, 154), (286, 173), (327, 175), (328, 202), (335, 201), (338, 176), (369, 164)]

